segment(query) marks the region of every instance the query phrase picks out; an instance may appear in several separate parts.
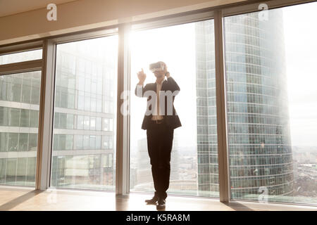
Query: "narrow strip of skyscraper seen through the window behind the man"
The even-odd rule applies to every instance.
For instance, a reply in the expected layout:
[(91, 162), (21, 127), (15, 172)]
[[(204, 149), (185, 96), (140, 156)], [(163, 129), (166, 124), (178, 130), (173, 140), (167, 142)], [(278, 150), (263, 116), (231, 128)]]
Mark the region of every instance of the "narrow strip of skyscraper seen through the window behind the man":
[(197, 176), (199, 195), (218, 197), (215, 40), (213, 20), (195, 23)]

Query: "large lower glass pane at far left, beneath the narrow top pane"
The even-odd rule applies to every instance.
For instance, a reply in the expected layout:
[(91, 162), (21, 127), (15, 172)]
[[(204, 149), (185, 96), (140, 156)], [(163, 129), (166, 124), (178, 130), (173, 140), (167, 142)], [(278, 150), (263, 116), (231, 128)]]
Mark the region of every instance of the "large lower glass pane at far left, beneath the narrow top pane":
[(0, 184), (35, 186), (40, 82), (41, 71), (0, 76)]

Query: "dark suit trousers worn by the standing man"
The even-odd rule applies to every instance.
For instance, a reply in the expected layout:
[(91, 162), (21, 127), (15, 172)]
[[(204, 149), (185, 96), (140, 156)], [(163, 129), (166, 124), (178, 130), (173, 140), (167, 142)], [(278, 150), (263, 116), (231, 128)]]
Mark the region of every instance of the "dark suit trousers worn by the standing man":
[(166, 199), (170, 185), (170, 153), (173, 147), (174, 129), (165, 122), (151, 121), (147, 129), (147, 150), (151, 162), (155, 195)]

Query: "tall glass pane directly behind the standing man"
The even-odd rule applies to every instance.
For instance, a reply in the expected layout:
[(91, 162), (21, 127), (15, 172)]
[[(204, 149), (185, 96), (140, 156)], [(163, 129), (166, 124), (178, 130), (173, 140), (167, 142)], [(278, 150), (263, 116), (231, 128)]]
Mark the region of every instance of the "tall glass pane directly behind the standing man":
[[(214, 44), (213, 20), (132, 33), (132, 91), (141, 68), (145, 84), (156, 81), (148, 68), (160, 60), (180, 86), (174, 105), (182, 127), (174, 130), (168, 193), (219, 196)], [(147, 100), (132, 94), (130, 191), (153, 193), (147, 132), (141, 129), (146, 108)]]

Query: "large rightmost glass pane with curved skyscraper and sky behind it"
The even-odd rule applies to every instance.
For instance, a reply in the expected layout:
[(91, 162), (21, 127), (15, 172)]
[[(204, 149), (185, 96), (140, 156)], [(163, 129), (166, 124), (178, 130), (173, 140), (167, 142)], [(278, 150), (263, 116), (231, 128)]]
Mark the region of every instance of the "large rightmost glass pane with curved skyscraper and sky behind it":
[(224, 20), (233, 199), (317, 203), (316, 11)]

